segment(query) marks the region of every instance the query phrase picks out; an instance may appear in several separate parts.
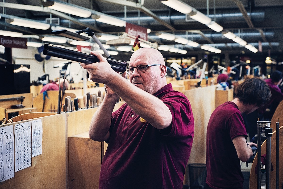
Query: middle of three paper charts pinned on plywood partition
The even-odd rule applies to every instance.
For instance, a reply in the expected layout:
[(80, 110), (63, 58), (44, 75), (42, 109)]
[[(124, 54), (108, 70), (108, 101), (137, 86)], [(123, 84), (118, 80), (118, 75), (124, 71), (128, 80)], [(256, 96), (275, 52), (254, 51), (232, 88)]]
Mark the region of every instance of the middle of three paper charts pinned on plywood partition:
[(15, 125), (16, 172), (31, 166), (31, 122)]

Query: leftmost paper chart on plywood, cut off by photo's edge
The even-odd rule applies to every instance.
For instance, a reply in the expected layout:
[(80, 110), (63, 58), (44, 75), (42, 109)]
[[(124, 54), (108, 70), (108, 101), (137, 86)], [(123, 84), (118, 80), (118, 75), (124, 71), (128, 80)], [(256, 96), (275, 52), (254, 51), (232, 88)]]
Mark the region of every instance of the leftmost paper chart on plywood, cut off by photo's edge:
[(0, 128), (0, 182), (15, 176), (13, 128), (13, 125)]

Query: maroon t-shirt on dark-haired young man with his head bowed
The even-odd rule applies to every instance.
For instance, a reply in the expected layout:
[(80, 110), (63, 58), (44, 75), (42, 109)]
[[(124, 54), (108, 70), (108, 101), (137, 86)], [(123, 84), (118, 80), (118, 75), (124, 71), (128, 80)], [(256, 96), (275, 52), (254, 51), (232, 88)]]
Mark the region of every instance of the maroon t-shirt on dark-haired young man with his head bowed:
[(215, 189), (243, 188), (244, 177), (232, 139), (244, 135), (241, 112), (233, 102), (218, 106), (211, 114), (206, 136), (206, 183)]

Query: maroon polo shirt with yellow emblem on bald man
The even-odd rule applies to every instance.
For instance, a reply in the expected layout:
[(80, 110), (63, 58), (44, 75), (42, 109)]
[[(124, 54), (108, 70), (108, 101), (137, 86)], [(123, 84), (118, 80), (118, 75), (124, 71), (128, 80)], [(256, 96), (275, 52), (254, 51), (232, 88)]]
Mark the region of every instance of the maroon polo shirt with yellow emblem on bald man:
[(154, 95), (170, 109), (171, 126), (156, 129), (127, 104), (114, 112), (99, 188), (182, 188), (194, 136), (192, 109), (171, 84)]

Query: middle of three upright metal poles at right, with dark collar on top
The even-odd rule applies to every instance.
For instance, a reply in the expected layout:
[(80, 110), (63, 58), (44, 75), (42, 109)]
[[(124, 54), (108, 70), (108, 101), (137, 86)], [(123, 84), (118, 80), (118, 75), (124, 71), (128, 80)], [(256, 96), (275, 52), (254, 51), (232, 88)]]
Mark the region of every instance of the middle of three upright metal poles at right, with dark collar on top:
[(270, 166), (271, 166), (271, 137), (272, 128), (265, 128), (266, 136), (266, 188), (270, 189)]

